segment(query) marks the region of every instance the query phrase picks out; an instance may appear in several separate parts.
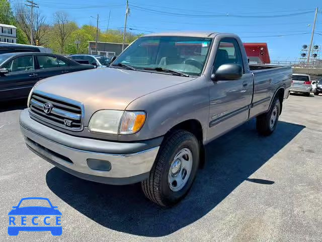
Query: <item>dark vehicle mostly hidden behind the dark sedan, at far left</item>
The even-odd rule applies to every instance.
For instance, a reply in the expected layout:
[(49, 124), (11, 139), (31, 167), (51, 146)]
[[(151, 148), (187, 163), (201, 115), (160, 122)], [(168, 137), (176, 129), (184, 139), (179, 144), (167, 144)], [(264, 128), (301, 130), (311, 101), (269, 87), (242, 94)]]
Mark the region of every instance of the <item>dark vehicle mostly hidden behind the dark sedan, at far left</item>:
[(0, 54), (15, 53), (15, 52), (51, 53), (52, 50), (49, 48), (42, 47), (42, 46), (0, 42)]

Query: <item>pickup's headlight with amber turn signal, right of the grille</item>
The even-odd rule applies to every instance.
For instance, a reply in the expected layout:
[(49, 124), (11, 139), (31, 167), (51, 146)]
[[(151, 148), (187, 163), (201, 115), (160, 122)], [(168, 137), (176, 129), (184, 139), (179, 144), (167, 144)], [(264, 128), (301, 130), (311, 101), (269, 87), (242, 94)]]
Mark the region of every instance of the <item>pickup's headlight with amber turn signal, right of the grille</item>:
[(100, 110), (92, 116), (89, 130), (115, 135), (134, 134), (142, 128), (145, 117), (143, 111)]

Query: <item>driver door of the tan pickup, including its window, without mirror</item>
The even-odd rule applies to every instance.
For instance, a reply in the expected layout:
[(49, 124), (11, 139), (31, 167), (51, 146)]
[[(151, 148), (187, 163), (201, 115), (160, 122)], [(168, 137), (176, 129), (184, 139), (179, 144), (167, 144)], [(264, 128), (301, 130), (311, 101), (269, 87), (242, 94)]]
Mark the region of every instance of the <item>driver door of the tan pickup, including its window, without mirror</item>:
[[(241, 43), (240, 43), (241, 44)], [(208, 139), (214, 139), (246, 122), (252, 102), (253, 81), (249, 70), (244, 69), (239, 44), (234, 38), (222, 38), (216, 52), (212, 73), (223, 64), (243, 67), (238, 80), (212, 81), (209, 77), (210, 113)]]

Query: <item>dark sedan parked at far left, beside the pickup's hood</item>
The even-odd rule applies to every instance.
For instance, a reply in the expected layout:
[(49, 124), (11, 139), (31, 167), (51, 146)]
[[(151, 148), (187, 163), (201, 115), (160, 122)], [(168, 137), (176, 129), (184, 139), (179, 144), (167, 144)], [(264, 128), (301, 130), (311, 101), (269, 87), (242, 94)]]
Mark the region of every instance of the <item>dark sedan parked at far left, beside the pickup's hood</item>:
[(44, 78), (93, 68), (57, 54), (0, 54), (0, 101), (28, 97), (36, 82)]

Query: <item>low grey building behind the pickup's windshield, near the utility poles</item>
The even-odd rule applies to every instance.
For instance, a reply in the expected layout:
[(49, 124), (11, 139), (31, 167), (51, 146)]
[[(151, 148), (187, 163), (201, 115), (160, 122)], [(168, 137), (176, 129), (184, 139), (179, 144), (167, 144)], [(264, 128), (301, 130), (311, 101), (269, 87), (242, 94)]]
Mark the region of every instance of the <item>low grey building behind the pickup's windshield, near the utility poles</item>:
[[(122, 43), (97, 42), (97, 54), (112, 57), (122, 52)], [(124, 44), (124, 48), (129, 44)], [(96, 54), (96, 41), (89, 41), (89, 54)]]

